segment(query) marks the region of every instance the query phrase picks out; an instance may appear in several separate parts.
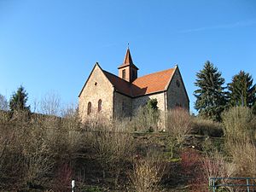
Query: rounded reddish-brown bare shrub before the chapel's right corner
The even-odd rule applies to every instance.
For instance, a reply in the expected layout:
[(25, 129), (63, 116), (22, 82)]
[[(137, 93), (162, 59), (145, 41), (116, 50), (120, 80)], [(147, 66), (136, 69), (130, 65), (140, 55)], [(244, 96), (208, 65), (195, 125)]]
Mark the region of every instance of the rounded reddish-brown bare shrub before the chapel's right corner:
[(167, 145), (171, 150), (171, 158), (173, 158), (175, 149), (181, 147), (186, 135), (191, 131), (191, 117), (182, 108), (172, 109), (166, 117)]

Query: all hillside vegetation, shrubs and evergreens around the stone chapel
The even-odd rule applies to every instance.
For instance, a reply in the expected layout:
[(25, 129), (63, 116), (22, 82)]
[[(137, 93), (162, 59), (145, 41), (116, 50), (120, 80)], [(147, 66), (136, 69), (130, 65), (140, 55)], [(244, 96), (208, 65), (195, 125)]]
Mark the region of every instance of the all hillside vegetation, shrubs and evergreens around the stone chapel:
[(239, 73), (226, 93), (209, 61), (197, 78), (199, 115), (175, 108), (165, 122), (155, 99), (132, 119), (82, 124), (55, 94), (38, 102), (41, 113), (30, 112), (23, 87), (9, 111), (0, 97), (0, 191), (66, 192), (74, 179), (81, 192), (203, 192), (209, 177), (256, 177), (253, 79)]

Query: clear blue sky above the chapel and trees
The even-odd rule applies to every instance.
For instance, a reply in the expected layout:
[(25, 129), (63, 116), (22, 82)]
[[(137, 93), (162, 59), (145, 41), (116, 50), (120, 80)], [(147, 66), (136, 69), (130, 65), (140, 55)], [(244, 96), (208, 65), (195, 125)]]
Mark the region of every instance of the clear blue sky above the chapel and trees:
[(195, 111), (207, 60), (227, 83), (240, 70), (256, 82), (256, 1), (0, 0), (0, 93), (78, 102), (96, 61), (117, 74), (128, 42), (139, 76), (178, 64)]

